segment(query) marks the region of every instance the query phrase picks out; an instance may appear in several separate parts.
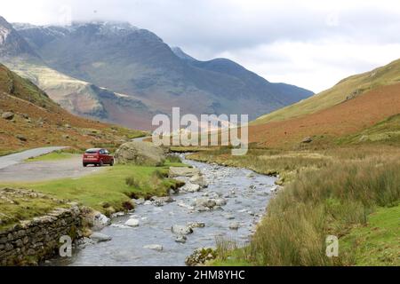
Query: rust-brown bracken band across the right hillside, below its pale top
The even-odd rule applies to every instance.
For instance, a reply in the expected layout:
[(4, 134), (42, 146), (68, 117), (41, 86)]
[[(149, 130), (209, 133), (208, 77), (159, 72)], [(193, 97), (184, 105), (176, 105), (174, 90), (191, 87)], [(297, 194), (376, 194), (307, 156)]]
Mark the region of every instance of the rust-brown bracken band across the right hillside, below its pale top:
[[(356, 142), (357, 139), (378, 139), (382, 135), (396, 137), (398, 130), (385, 130), (374, 125), (400, 114), (400, 83), (380, 86), (354, 99), (325, 108), (313, 114), (302, 115), (279, 122), (251, 125), (249, 138), (260, 146), (293, 148), (306, 146), (303, 138), (313, 141), (307, 146), (332, 146), (337, 142)], [(386, 127), (396, 127), (396, 120), (384, 122)], [(362, 131), (372, 131), (363, 134)], [(386, 134), (381, 132), (389, 131)], [(390, 132), (393, 131), (393, 132)], [(361, 134), (360, 134), (361, 133)], [(373, 134), (373, 135), (372, 135)], [(357, 136), (361, 135), (361, 136)], [(367, 136), (369, 135), (369, 138)]]

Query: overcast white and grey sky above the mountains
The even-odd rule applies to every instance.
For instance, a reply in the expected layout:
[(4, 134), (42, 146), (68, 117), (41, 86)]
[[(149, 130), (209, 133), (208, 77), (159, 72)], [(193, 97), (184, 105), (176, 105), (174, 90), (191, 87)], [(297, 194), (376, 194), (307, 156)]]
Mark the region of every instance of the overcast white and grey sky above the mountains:
[(12, 0), (0, 8), (6, 20), (33, 24), (69, 14), (129, 21), (196, 59), (233, 59), (316, 92), (400, 58), (398, 0)]

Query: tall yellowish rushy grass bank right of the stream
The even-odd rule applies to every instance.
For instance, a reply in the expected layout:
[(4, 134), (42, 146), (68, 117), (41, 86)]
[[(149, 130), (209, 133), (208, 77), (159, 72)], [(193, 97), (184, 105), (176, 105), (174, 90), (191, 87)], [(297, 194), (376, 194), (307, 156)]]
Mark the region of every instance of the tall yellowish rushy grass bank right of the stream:
[[(368, 251), (357, 249), (363, 245), (363, 237), (355, 234), (354, 238), (345, 238), (360, 226), (368, 227), (371, 214), (377, 209), (381, 212), (398, 207), (398, 147), (338, 147), (320, 151), (251, 149), (245, 156), (231, 156), (228, 151), (200, 152), (189, 158), (279, 175), (284, 190), (268, 205), (268, 213), (251, 244), (223, 256), (215, 264), (398, 265), (398, 256), (393, 253), (386, 256), (388, 250), (397, 248), (393, 245), (396, 240), (386, 238), (396, 239), (398, 235), (382, 233), (372, 241), (371, 249), (379, 255), (373, 263), (363, 257)], [(377, 228), (386, 230), (379, 221)], [(325, 255), (327, 235), (339, 237), (338, 257)]]

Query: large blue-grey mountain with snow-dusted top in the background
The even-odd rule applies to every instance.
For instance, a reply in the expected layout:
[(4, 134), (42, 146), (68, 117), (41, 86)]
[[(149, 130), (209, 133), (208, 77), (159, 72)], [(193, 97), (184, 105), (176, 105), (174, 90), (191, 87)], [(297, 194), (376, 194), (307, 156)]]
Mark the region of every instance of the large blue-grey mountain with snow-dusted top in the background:
[[(154, 33), (127, 23), (75, 23), (70, 27), (14, 24), (14, 28), (43, 59), (42, 69), (123, 94), (114, 96), (124, 99), (123, 106), (115, 106), (109, 99), (104, 102), (99, 94), (86, 97), (96, 97), (108, 108), (107, 115), (100, 112), (98, 117), (135, 128), (148, 129), (154, 114), (170, 114), (172, 106), (180, 106), (182, 113), (249, 114), (254, 119), (312, 95), (295, 86), (269, 83), (228, 59), (196, 60), (180, 49), (171, 49)], [(18, 59), (15, 56), (5, 63), (22, 75), (27, 60), (15, 64)], [(42, 86), (42, 74), (35, 68), (26, 71)], [(52, 89), (46, 91), (67, 106), (60, 98), (62, 88)], [(70, 92), (65, 96), (70, 97)], [(74, 96), (78, 100), (80, 95)], [(68, 109), (80, 114), (74, 100), (69, 101), (72, 105)], [(126, 106), (132, 102), (133, 107)], [(89, 115), (97, 113), (94, 108)]]

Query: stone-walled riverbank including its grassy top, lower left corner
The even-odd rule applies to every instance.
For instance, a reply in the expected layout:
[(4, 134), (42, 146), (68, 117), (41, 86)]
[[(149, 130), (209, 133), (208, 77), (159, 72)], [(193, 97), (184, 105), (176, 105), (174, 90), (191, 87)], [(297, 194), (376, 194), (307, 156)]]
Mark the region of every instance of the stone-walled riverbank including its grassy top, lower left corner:
[(43, 193), (0, 188), (0, 265), (35, 265), (53, 256), (60, 237), (82, 236), (83, 216), (77, 203)]

